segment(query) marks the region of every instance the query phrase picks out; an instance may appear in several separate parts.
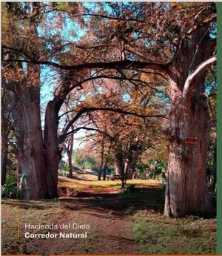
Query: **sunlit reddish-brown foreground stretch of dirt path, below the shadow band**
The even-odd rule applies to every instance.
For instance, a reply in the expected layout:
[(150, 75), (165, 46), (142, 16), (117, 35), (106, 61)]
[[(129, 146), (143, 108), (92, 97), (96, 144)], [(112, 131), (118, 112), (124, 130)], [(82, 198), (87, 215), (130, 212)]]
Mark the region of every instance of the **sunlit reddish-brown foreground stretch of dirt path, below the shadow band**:
[[(86, 223), (87, 239), (59, 239), (45, 243), (45, 255), (56, 253), (135, 254), (137, 246), (132, 238), (129, 217), (114, 216), (110, 212), (65, 210), (61, 223)], [(83, 232), (85, 232), (84, 230)], [(66, 232), (72, 232), (67, 230)], [(81, 233), (81, 230), (78, 230)]]

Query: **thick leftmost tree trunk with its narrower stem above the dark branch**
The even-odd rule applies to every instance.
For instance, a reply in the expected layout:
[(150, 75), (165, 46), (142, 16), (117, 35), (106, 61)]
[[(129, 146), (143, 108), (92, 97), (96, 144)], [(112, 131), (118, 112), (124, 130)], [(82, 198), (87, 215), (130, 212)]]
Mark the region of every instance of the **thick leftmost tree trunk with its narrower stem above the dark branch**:
[[(34, 59), (39, 58), (38, 50), (33, 47), (32, 40), (38, 39), (37, 19), (41, 5), (33, 3), (30, 8), (28, 40), (29, 54)], [(10, 12), (14, 12), (13, 5), (8, 6)], [(35, 15), (34, 15), (35, 14)], [(26, 42), (22, 47), (27, 47)], [(21, 49), (22, 49), (21, 47)], [(13, 53), (14, 55), (15, 53)], [(20, 58), (18, 53), (18, 59)], [(12, 104), (14, 131), (18, 146), (18, 165), (21, 174), (26, 174), (22, 184), (21, 196), (25, 200), (38, 200), (47, 198), (46, 165), (44, 157), (44, 145), (41, 131), (40, 114), (40, 67), (27, 64), (24, 68), (21, 64), (11, 65), (12, 70), (20, 70), (18, 80), (6, 81), (8, 102)], [(21, 70), (23, 70), (21, 72)]]

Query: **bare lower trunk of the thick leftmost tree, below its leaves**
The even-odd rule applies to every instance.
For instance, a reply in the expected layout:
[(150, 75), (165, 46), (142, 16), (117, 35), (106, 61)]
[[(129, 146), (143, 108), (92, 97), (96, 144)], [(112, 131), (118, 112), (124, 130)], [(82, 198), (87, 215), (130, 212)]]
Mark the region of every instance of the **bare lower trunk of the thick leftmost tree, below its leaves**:
[(12, 113), (18, 142), (18, 164), (21, 173), (27, 175), (21, 196), (25, 200), (37, 200), (47, 197), (40, 108), (39, 101), (33, 99), (38, 90), (23, 89), (21, 95), (10, 93), (15, 104)]

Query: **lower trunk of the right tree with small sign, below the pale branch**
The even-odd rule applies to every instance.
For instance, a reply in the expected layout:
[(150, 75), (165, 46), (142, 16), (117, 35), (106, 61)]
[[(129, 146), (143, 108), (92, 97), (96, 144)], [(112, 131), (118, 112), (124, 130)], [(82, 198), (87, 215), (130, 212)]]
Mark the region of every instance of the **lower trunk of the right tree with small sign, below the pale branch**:
[[(206, 184), (209, 115), (195, 99), (171, 116), (165, 214), (208, 216), (211, 211)], [(186, 144), (195, 137), (195, 144)]]

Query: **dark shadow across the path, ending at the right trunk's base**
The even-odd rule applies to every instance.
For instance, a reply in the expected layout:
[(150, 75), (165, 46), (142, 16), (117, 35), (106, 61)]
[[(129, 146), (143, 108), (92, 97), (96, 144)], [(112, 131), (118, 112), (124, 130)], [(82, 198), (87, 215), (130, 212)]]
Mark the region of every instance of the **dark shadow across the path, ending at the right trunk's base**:
[(134, 214), (135, 211), (153, 209), (164, 211), (164, 190), (161, 188), (138, 188), (133, 192), (101, 194), (80, 192), (75, 198), (61, 198), (61, 206), (73, 211), (99, 209), (113, 214)]

